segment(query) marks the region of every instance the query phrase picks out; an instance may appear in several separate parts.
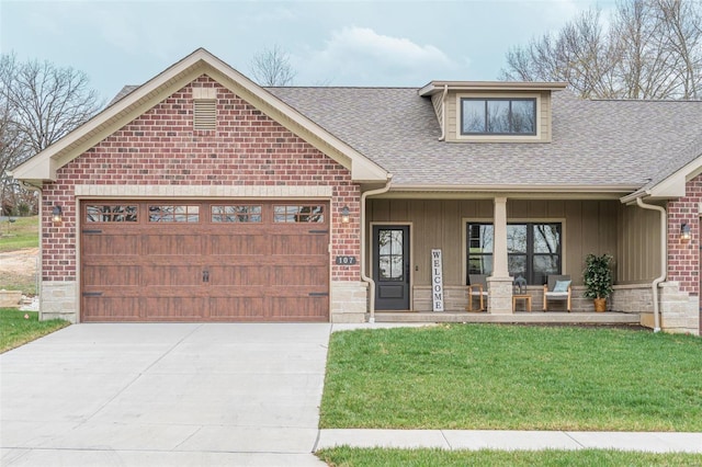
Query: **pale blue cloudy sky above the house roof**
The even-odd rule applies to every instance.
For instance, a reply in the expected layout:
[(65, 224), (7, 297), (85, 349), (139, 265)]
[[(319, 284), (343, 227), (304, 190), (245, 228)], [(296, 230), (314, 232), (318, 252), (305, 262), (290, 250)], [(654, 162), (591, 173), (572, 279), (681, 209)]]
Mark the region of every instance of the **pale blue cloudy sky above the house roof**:
[(614, 0), (0, 0), (0, 52), (84, 71), (112, 99), (199, 47), (251, 77), (279, 46), (294, 86), (412, 87), (499, 78), (511, 47)]

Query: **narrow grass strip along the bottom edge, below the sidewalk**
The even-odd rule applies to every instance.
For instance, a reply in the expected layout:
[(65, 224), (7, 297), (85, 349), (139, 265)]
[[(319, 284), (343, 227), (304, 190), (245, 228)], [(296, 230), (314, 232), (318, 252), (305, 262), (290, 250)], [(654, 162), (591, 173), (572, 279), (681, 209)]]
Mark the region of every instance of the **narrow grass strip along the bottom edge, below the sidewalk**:
[(351, 448), (348, 446), (315, 453), (330, 466), (700, 466), (702, 456), (683, 453), (639, 453), (613, 449), (581, 451), (441, 451)]

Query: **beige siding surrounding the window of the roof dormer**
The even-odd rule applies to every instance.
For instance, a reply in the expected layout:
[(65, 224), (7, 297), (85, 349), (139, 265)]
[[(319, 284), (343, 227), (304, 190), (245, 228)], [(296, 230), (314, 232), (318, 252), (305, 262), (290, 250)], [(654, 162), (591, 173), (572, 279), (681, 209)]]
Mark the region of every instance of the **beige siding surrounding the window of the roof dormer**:
[[(460, 140), (466, 140), (465, 137), (461, 138), (461, 135), (458, 134), (458, 126), (460, 126), (460, 122), (461, 122), (461, 114), (460, 114), (460, 109), (458, 109), (458, 102), (461, 101), (461, 96), (472, 96), (472, 98), (514, 98), (514, 99), (519, 99), (519, 98), (523, 98), (523, 96), (533, 96), (535, 94), (540, 95), (540, 103), (541, 103), (541, 107), (540, 107), (540, 122), (541, 122), (541, 137), (539, 139), (523, 139), (523, 138), (519, 138), (516, 136), (507, 136), (503, 138), (494, 138), (490, 139), (490, 143), (498, 143), (498, 141), (507, 141), (507, 143), (514, 143), (517, 140), (519, 140), (520, 143), (550, 143), (551, 141), (551, 92), (548, 91), (543, 91), (543, 92), (529, 92), (526, 94), (524, 93), (518, 93), (518, 92), (505, 92), (505, 93), (498, 93), (498, 92), (490, 92), (490, 93), (478, 93), (478, 92), (471, 92), (471, 93), (464, 93), (464, 92), (450, 92), (449, 95), (446, 96), (446, 141), (460, 141)], [(433, 102), (434, 107), (437, 105), (437, 102), (441, 102), (441, 98), (440, 94), (435, 94), (439, 95), (439, 98)], [(432, 99), (433, 100), (433, 99)], [(437, 112), (437, 115), (439, 115), (439, 112)], [(531, 137), (533, 138), (533, 137)]]

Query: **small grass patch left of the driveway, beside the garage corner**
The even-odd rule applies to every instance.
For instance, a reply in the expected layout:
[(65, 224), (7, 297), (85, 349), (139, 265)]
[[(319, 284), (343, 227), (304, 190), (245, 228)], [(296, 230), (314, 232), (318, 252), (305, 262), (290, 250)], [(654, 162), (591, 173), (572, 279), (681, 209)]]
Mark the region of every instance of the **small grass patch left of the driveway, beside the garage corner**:
[[(25, 315), (29, 319), (24, 318)], [(63, 319), (39, 321), (36, 311), (0, 308), (0, 353), (50, 334), (68, 324), (69, 322)]]

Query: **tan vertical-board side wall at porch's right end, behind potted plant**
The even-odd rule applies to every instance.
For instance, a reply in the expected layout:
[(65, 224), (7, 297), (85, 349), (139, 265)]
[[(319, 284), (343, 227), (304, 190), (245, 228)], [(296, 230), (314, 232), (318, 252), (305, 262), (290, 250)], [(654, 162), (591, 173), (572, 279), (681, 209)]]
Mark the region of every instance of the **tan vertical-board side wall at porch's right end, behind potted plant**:
[(660, 214), (622, 206), (618, 232), (618, 283), (650, 282), (660, 275)]

